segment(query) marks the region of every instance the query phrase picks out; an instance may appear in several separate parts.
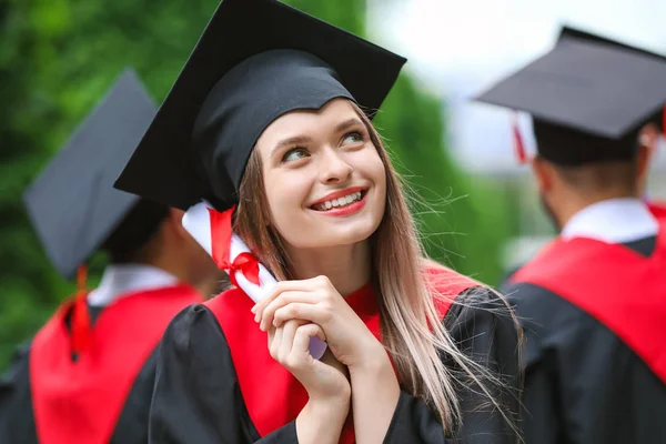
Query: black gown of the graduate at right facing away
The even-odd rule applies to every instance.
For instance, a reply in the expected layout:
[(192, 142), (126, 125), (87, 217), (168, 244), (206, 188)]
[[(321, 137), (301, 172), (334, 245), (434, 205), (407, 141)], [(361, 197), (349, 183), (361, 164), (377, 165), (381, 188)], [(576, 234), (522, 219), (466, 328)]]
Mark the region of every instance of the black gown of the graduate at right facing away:
[[(656, 245), (656, 238), (645, 238), (616, 246), (649, 259)], [(589, 264), (578, 266), (585, 271)], [(581, 284), (581, 292), (585, 285), (595, 282)], [(526, 444), (666, 443), (666, 384), (602, 316), (529, 282), (509, 281), (503, 292), (526, 339), (522, 415)], [(627, 297), (644, 297), (640, 283)], [(625, 329), (635, 322), (632, 311), (627, 310)], [(666, 337), (658, 340), (666, 344)]]

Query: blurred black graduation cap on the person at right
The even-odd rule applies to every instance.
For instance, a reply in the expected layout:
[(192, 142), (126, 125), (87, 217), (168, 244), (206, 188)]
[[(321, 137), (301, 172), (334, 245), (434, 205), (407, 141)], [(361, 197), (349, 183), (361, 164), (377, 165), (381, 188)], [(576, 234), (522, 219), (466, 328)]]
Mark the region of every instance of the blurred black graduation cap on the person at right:
[(532, 114), (538, 152), (555, 163), (630, 159), (640, 128), (666, 102), (666, 61), (564, 36), (475, 100)]

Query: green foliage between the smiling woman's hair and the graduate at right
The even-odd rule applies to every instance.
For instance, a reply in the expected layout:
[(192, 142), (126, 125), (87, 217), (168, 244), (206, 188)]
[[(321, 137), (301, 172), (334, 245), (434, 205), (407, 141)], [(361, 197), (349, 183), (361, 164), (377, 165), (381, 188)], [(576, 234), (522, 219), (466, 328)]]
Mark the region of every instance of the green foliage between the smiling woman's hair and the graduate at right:
[(440, 102), (402, 75), (375, 118), (411, 190), (428, 255), (481, 281), (501, 276), (500, 246), (508, 232), (504, 200), (461, 172), (444, 147)]

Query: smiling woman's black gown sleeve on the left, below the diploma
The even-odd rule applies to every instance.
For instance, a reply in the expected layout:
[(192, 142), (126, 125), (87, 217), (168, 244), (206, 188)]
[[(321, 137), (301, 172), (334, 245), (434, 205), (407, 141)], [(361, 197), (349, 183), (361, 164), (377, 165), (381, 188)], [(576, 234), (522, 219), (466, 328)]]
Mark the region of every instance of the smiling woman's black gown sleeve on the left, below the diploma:
[(261, 438), (236, 381), (226, 340), (203, 305), (181, 312), (160, 344), (150, 444), (297, 443), (292, 422)]

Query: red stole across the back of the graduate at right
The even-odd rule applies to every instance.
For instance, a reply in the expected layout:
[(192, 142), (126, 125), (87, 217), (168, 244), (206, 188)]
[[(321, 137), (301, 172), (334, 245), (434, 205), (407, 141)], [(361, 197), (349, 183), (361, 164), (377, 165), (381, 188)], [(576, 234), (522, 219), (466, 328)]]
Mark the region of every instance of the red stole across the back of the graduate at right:
[(659, 223), (650, 258), (622, 244), (557, 239), (512, 281), (542, 286), (587, 312), (666, 382), (666, 220)]

